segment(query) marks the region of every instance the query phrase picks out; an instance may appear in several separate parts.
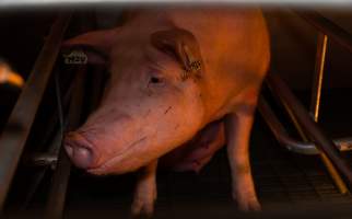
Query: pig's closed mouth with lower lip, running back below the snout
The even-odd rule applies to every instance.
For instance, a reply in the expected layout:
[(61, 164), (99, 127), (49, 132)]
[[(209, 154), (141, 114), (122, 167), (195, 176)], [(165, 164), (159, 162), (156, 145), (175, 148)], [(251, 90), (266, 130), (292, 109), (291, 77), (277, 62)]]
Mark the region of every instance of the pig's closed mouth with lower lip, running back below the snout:
[(102, 163), (98, 166), (87, 169), (86, 171), (89, 173), (94, 174), (94, 175), (103, 175), (103, 174), (114, 173), (115, 165), (120, 160), (122, 160), (124, 158), (126, 158), (126, 155), (128, 155), (128, 153), (130, 153), (131, 151), (136, 150), (136, 148), (138, 148), (146, 139), (148, 139), (148, 137), (144, 136), (144, 137), (136, 140), (136, 141), (133, 141), (125, 150), (119, 151), (117, 154), (114, 154), (112, 159), (108, 159), (107, 161), (105, 161), (104, 163)]

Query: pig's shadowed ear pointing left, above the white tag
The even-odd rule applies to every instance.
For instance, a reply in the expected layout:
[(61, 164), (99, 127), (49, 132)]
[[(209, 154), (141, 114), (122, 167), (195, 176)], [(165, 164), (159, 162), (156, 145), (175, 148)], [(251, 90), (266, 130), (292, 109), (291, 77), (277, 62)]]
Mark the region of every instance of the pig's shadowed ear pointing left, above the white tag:
[(66, 56), (70, 56), (74, 51), (83, 51), (89, 64), (105, 65), (108, 61), (108, 54), (116, 34), (116, 28), (89, 32), (64, 41), (61, 45), (61, 51)]

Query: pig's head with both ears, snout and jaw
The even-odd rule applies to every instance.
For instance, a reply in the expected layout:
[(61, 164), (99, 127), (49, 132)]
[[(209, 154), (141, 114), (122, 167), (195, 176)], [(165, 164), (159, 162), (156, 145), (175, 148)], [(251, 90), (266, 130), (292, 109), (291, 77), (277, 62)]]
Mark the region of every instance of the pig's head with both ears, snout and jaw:
[(64, 46), (90, 48), (89, 62), (104, 64), (110, 72), (99, 107), (66, 136), (77, 166), (93, 174), (134, 171), (203, 125), (204, 69), (191, 33), (115, 28), (86, 33)]

